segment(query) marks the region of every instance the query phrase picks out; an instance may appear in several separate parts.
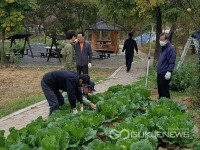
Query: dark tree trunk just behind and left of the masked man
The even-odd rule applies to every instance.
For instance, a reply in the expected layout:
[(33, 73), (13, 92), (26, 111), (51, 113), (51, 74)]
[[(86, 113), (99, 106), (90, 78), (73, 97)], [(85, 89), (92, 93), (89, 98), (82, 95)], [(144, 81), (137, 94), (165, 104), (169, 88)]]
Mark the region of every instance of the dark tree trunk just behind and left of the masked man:
[(160, 34), (162, 33), (162, 12), (160, 10), (160, 7), (156, 8), (156, 48), (154, 53), (154, 60), (153, 60), (153, 66), (156, 66), (158, 61), (158, 56), (160, 53)]

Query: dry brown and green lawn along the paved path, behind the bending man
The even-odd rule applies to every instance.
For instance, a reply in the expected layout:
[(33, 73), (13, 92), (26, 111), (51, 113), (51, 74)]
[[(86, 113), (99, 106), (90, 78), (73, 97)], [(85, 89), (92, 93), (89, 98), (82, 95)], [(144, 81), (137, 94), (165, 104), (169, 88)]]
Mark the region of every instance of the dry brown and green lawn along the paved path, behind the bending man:
[[(0, 68), (0, 118), (45, 99), (40, 81), (49, 71), (59, 68)], [(109, 77), (112, 69), (92, 68), (91, 80)]]

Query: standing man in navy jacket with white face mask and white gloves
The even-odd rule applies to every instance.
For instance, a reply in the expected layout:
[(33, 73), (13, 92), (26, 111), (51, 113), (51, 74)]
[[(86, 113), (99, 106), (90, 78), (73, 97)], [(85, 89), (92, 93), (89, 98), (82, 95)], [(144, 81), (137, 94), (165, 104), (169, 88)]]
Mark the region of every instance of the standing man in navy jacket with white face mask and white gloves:
[(169, 83), (176, 61), (176, 49), (169, 41), (168, 33), (160, 34), (161, 51), (157, 64), (157, 86), (159, 99), (170, 98)]

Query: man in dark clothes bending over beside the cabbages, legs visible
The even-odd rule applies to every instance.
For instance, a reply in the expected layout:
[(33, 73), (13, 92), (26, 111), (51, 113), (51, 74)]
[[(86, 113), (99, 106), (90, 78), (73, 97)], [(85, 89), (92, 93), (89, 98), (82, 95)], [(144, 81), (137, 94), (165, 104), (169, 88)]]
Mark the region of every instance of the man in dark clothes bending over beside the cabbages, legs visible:
[(41, 81), (41, 87), (49, 103), (49, 115), (64, 104), (64, 98), (60, 90), (67, 92), (73, 113), (77, 113), (76, 101), (82, 105), (81, 87), (88, 88), (90, 77), (87, 74), (78, 75), (76, 72), (56, 70), (48, 72)]

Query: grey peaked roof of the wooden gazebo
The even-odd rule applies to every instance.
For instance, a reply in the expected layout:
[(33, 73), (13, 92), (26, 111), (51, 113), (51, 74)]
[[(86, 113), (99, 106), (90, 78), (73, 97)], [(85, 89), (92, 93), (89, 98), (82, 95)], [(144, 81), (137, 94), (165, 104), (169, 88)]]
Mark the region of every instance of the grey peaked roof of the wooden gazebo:
[(93, 25), (90, 25), (89, 28), (86, 30), (106, 30), (106, 31), (113, 31), (113, 30), (124, 30), (122, 26), (116, 23), (109, 23), (106, 21), (99, 21)]

